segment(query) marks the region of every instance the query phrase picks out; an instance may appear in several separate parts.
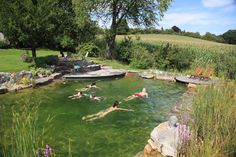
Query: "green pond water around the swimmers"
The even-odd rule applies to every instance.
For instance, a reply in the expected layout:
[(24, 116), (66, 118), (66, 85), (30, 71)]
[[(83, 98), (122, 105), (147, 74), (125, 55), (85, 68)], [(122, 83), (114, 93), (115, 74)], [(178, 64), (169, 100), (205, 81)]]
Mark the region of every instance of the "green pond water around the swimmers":
[[(68, 139), (71, 139), (74, 157), (133, 157), (144, 148), (152, 129), (166, 120), (171, 107), (186, 90), (177, 83), (122, 78), (97, 81), (100, 89), (87, 93), (104, 97), (100, 102), (86, 97), (67, 98), (75, 93), (75, 89), (91, 82), (69, 81), (5, 94), (0, 96), (0, 103), (10, 107), (18, 99), (33, 97), (35, 101), (40, 100), (39, 123), (43, 124), (48, 116), (55, 116), (45, 142), (55, 149), (57, 156), (68, 156)], [(143, 87), (149, 93), (148, 99), (122, 101)], [(83, 116), (110, 107), (115, 100), (122, 101), (120, 107), (134, 112), (114, 111), (92, 122), (82, 120)]]

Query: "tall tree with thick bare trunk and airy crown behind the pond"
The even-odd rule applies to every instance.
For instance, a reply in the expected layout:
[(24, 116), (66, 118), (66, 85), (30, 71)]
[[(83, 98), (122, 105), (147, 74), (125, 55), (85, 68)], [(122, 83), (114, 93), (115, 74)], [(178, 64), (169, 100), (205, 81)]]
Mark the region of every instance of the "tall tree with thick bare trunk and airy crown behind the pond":
[[(113, 57), (117, 29), (122, 20), (134, 26), (149, 27), (161, 20), (172, 0), (84, 0), (80, 5), (89, 6), (91, 14), (99, 19), (109, 19), (111, 26), (106, 34), (107, 57)], [(79, 3), (77, 3), (79, 4)], [(85, 5), (86, 4), (86, 5)]]

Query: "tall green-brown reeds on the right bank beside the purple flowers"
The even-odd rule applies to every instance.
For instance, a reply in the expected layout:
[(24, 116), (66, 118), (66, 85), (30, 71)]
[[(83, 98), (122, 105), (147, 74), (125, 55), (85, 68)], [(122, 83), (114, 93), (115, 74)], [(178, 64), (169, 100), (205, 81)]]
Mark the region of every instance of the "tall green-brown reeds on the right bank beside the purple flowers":
[(191, 108), (192, 138), (182, 156), (233, 156), (236, 152), (236, 86), (200, 87)]

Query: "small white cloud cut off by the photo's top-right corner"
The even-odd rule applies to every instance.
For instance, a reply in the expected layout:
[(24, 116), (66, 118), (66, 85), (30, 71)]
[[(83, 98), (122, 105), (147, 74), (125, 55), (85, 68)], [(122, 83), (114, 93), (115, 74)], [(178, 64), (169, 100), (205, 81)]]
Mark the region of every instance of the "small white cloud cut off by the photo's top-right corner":
[(202, 0), (205, 7), (215, 8), (215, 7), (229, 7), (235, 5), (234, 0)]

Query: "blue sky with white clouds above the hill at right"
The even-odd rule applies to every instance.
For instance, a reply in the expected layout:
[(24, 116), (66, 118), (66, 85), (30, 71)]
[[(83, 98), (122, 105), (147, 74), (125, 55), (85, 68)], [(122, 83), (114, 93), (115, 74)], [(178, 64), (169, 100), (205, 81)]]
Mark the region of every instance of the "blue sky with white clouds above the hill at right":
[(174, 25), (201, 34), (236, 29), (236, 0), (174, 0), (158, 27)]

